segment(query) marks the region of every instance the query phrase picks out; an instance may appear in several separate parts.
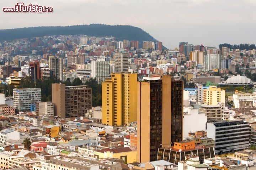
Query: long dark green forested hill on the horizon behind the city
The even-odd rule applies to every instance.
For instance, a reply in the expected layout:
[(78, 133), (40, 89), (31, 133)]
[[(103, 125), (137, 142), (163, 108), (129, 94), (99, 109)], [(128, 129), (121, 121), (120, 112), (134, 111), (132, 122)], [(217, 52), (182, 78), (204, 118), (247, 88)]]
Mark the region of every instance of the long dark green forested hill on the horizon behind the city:
[(13, 40), (20, 38), (32, 38), (45, 35), (79, 35), (85, 34), (88, 36), (113, 36), (116, 40), (137, 40), (139, 47), (142, 47), (142, 41), (157, 42), (153, 36), (146, 33), (143, 29), (128, 25), (105, 25), (105, 24), (90, 24), (77, 26), (54, 26), (54, 27), (29, 27), (16, 29), (0, 30), (0, 41)]

